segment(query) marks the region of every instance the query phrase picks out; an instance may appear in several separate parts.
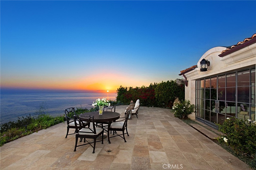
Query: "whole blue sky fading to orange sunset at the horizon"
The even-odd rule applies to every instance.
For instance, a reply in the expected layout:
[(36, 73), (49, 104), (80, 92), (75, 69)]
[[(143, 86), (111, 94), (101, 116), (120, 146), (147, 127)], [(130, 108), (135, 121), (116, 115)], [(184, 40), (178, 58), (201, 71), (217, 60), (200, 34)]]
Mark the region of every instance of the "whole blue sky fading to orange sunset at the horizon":
[(1, 1), (1, 90), (115, 92), (183, 78), (256, 32), (256, 1)]

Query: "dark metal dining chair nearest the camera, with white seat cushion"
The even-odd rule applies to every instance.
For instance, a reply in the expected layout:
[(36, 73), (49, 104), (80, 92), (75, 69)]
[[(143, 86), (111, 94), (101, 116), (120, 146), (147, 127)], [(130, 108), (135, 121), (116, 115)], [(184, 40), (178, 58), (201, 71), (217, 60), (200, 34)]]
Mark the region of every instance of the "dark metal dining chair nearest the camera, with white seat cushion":
[[(87, 115), (85, 115), (85, 116), (87, 116)], [(81, 129), (80, 129), (81, 124), (80, 125), (77, 124), (77, 122), (82, 122), (80, 120), (79, 116), (74, 115), (74, 120), (75, 120), (75, 126), (76, 126), (76, 145), (75, 145), (74, 152), (76, 151), (76, 148), (79, 146), (88, 145), (88, 144), (91, 145), (91, 143), (93, 143), (93, 146), (91, 145), (91, 147), (93, 147), (92, 153), (95, 153), (96, 142), (102, 141), (101, 144), (103, 144), (104, 130), (100, 127), (96, 127), (96, 124), (94, 122), (94, 116), (88, 115), (88, 119), (86, 121), (83, 120), (84, 122), (87, 123), (88, 126), (83, 127)], [(96, 141), (97, 137), (99, 137), (100, 135), (102, 135), (101, 140)], [(84, 138), (84, 142), (87, 142), (87, 143), (82, 144), (82, 145), (77, 145), (78, 138), (81, 139), (80, 142), (82, 141), (82, 138)], [(86, 138), (93, 139), (93, 142), (87, 141)]]

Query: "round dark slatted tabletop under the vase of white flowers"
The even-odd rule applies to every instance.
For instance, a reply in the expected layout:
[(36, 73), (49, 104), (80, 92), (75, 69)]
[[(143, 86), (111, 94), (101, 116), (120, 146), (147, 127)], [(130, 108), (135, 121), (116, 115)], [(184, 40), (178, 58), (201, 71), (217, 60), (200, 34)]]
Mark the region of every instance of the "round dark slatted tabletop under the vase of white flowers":
[(101, 115), (99, 114), (99, 111), (82, 113), (79, 115), (79, 117), (81, 120), (85, 121), (89, 119), (88, 115), (94, 116), (94, 122), (111, 122), (120, 118), (120, 113), (108, 111), (103, 111)]

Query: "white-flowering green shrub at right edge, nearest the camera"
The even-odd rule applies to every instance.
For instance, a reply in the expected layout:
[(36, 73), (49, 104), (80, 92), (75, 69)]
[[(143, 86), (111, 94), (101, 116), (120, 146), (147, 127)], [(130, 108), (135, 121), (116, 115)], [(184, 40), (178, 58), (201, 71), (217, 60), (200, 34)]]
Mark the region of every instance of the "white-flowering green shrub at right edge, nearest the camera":
[(227, 118), (222, 125), (219, 125), (219, 131), (225, 135), (220, 136), (218, 141), (226, 143), (235, 152), (255, 155), (256, 151), (256, 122), (250, 119), (242, 120), (235, 117)]

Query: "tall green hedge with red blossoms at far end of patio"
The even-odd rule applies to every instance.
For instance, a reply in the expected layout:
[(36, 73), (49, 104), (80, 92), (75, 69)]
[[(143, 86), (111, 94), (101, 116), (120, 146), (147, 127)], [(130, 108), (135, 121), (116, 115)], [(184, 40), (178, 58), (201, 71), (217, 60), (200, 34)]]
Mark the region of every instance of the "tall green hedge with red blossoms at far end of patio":
[(117, 90), (116, 100), (123, 104), (130, 104), (130, 101), (136, 102), (140, 99), (141, 106), (147, 107), (169, 107), (173, 106), (176, 98), (184, 100), (185, 84), (177, 84), (176, 81), (150, 84), (148, 87), (123, 87)]

